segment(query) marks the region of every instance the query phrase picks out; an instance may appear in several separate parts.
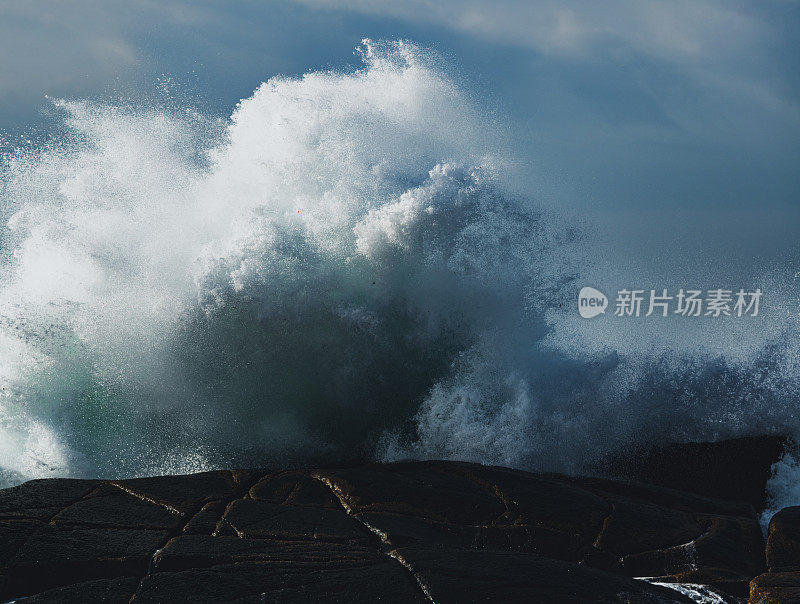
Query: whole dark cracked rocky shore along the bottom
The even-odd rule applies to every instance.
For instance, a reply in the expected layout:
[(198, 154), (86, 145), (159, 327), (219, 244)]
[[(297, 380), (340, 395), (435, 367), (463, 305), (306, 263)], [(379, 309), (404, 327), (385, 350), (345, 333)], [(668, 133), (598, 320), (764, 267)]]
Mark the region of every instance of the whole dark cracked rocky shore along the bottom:
[(31, 481), (0, 491), (0, 602), (800, 602), (800, 508), (765, 543), (752, 492), (654, 482), (443, 461)]

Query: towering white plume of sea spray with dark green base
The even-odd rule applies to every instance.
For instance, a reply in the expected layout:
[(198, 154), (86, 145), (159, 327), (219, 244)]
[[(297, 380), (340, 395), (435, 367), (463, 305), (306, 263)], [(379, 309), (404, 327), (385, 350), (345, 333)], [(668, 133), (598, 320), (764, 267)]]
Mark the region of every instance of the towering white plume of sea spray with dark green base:
[(6, 158), (4, 472), (369, 455), (519, 303), (546, 244), (490, 125), (427, 53), (362, 51), (206, 148), (191, 112), (59, 101), (69, 134)]

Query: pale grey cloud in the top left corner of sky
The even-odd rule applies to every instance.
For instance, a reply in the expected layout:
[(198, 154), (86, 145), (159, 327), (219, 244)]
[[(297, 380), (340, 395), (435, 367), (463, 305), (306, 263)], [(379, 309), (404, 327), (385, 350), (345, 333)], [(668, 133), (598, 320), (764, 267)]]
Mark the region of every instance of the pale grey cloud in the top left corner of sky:
[(127, 94), (160, 75), (157, 35), (174, 35), (178, 46), (181, 35), (219, 25), (225, 14), (222, 4), (183, 1), (0, 0), (0, 126), (31, 119), (46, 95)]

